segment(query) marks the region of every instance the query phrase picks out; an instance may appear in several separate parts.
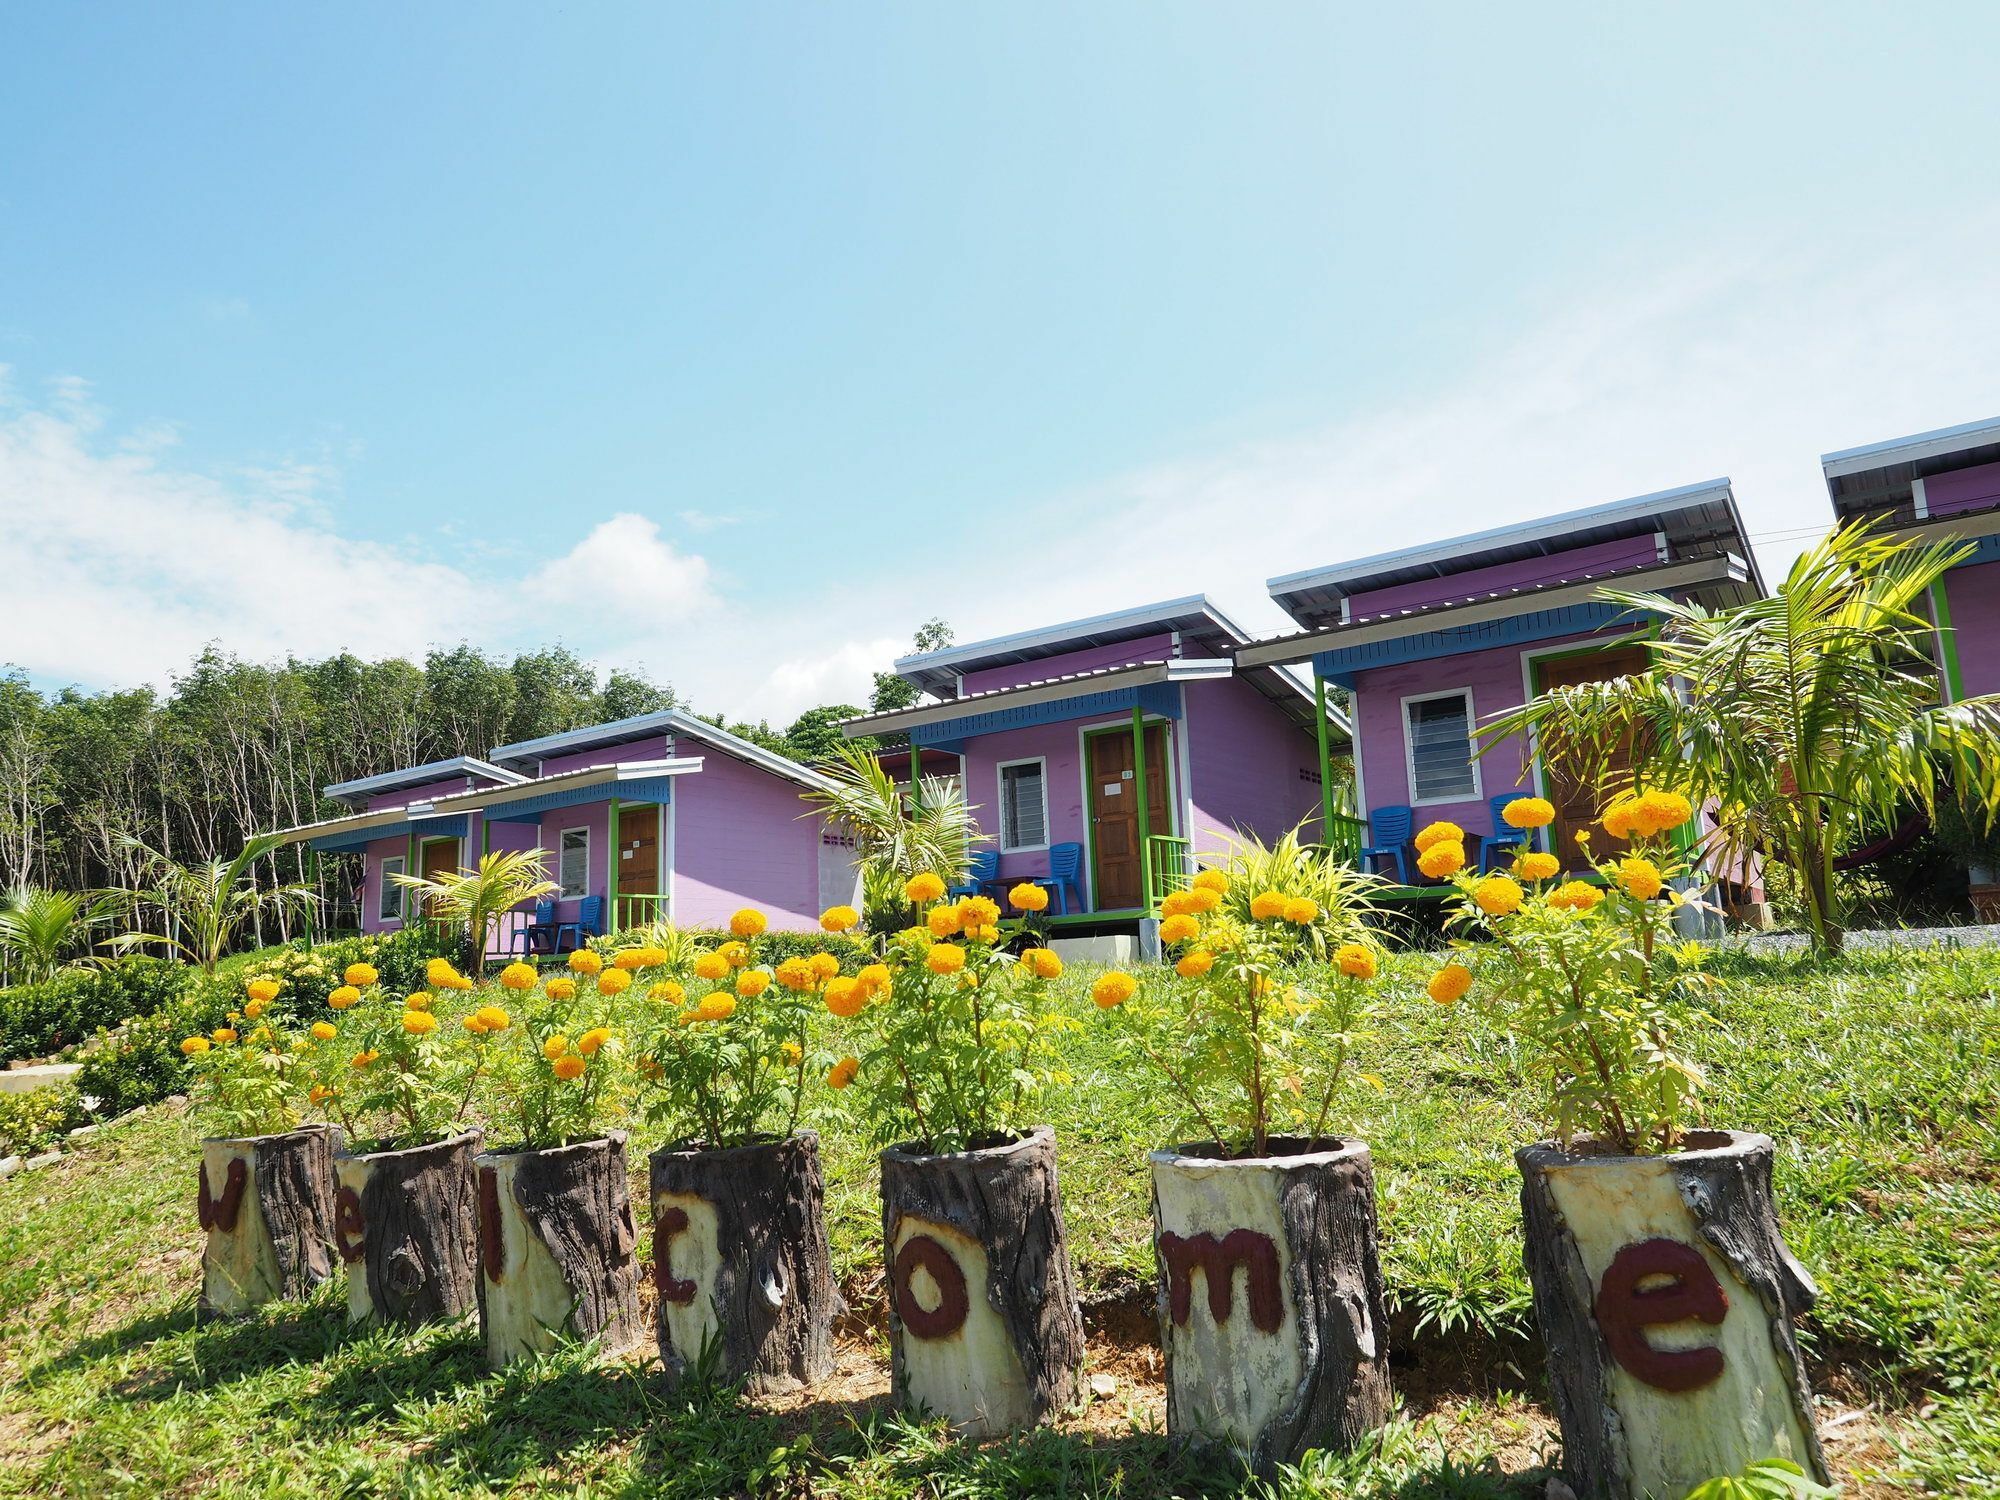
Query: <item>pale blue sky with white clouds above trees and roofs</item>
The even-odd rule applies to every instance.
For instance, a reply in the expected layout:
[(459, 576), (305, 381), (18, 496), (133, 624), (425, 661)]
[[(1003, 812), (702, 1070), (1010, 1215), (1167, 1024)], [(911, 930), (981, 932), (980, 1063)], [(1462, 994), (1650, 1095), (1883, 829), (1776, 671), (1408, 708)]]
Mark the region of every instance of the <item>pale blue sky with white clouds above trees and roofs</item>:
[[(702, 706), (2000, 412), (1992, 6), (10, 6), (0, 660)], [(248, 588), (254, 602), (240, 590)]]

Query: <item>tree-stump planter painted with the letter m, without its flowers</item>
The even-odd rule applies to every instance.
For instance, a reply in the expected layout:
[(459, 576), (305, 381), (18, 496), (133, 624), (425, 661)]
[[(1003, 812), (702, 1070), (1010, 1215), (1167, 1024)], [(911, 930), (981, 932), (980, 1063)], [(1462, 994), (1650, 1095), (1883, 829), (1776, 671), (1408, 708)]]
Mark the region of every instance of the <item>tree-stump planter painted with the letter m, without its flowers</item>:
[(1374, 1170), (1360, 1140), (1152, 1152), (1166, 1430), (1270, 1474), (1390, 1416)]

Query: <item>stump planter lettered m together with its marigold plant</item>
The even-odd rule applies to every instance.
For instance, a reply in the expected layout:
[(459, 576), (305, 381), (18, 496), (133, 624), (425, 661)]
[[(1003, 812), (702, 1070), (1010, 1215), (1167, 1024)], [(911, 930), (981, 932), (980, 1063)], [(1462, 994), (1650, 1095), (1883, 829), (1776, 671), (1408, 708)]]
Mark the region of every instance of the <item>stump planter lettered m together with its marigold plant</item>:
[(1370, 884), (1296, 834), (1246, 844), (1162, 904), (1172, 978), (1092, 990), (1200, 1132), (1150, 1156), (1168, 1432), (1260, 1474), (1390, 1414), (1374, 1170), (1330, 1134), (1378, 968)]

